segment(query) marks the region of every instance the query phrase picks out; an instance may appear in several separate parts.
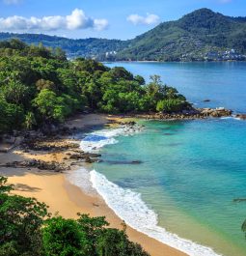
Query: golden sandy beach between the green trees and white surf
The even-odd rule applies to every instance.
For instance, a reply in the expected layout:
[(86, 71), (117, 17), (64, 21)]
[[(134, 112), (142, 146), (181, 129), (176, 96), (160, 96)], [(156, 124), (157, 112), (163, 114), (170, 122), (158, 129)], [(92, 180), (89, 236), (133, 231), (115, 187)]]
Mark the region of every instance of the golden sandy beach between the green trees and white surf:
[[(116, 120), (116, 117), (105, 115), (78, 115), (68, 120), (68, 128), (89, 128), (98, 125), (105, 125), (109, 121)], [(119, 120), (118, 120), (119, 121)], [(66, 143), (62, 139), (62, 143)], [(13, 161), (22, 161), (26, 159), (39, 159), (42, 161), (55, 161), (63, 164), (70, 150), (47, 152), (24, 152), (18, 147), (8, 153), (0, 153), (0, 163), (4, 164)], [(67, 161), (68, 162), (68, 161)], [(69, 164), (68, 162), (67, 164)], [(58, 213), (67, 218), (76, 217), (76, 213), (90, 213), (91, 216), (106, 216), (112, 227), (122, 228), (123, 220), (120, 219), (97, 195), (88, 195), (78, 186), (68, 182), (68, 172), (72, 172), (78, 166), (72, 166), (70, 170), (64, 172), (53, 172), (39, 170), (37, 168), (12, 168), (0, 167), (0, 175), (9, 178), (9, 183), (14, 184), (14, 193), (36, 197), (41, 202), (49, 206), (50, 213)], [(186, 255), (161, 242), (157, 242), (150, 237), (127, 227), (129, 239), (133, 242), (140, 243), (152, 256), (181, 256)]]

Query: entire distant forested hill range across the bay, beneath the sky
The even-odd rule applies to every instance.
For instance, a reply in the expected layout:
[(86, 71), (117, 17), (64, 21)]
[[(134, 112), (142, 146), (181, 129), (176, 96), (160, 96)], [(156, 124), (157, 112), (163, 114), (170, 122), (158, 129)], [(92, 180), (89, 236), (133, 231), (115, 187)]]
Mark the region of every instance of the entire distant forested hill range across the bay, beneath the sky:
[[(26, 43), (61, 46), (68, 56), (98, 60), (209, 60), (210, 53), (235, 49), (246, 54), (246, 18), (200, 9), (177, 21), (163, 22), (133, 40), (69, 40), (32, 34), (0, 33), (0, 40), (18, 38)], [(232, 58), (232, 57), (231, 57)]]

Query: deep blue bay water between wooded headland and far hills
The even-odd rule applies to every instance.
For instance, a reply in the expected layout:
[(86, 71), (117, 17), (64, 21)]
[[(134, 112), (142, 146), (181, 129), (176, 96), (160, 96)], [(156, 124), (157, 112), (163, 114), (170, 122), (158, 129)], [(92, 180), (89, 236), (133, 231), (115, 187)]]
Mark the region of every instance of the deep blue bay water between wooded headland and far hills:
[[(111, 63), (149, 81), (158, 74), (163, 82), (178, 88), (200, 106), (224, 106), (246, 112), (246, 62), (224, 63)], [(211, 100), (203, 103), (203, 100)]]

